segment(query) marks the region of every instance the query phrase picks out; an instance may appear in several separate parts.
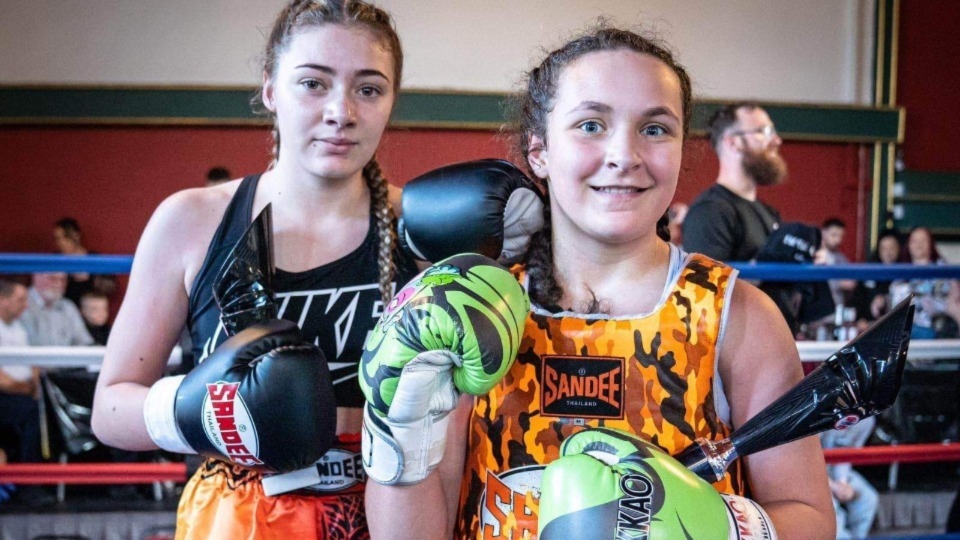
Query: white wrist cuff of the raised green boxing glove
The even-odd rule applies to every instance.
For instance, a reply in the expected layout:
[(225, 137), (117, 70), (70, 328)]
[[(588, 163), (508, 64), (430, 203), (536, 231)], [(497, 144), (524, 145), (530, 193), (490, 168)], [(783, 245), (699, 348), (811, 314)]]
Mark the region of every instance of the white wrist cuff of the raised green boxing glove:
[(363, 410), (361, 441), (367, 476), (385, 485), (416, 484), (436, 468), (446, 446), (449, 414), (397, 423)]

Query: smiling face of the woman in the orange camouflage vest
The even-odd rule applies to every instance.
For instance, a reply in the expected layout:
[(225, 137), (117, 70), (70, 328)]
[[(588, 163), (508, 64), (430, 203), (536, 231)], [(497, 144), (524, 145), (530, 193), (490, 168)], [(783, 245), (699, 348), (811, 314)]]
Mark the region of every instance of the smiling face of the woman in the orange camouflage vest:
[(529, 154), (549, 182), (555, 238), (655, 235), (677, 187), (682, 118), (679, 78), (651, 55), (616, 49), (568, 64), (546, 140), (533, 140)]

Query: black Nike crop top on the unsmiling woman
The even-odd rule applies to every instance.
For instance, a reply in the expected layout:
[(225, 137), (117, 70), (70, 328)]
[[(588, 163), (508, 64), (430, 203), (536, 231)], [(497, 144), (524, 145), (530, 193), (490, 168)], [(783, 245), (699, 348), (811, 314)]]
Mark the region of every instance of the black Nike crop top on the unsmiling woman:
[[(213, 299), (213, 280), (224, 258), (253, 220), (253, 198), (260, 175), (244, 178), (227, 206), (207, 256), (190, 291), (187, 328), (193, 358), (202, 362), (226, 339), (220, 309)], [(367, 334), (383, 312), (377, 265), (377, 231), (370, 228), (357, 249), (343, 258), (304, 272), (277, 269), (274, 289), (280, 317), (300, 326), (304, 337), (323, 351), (340, 407), (360, 407), (363, 394), (357, 382), (357, 363)], [(413, 261), (394, 253), (397, 272), (394, 290), (417, 273)]]

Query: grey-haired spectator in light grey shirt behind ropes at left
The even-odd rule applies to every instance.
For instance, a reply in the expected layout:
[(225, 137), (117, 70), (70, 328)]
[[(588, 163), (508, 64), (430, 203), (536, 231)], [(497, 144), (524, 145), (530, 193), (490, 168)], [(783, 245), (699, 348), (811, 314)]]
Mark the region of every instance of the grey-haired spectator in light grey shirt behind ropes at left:
[(22, 321), (31, 345), (92, 345), (80, 310), (64, 298), (67, 275), (63, 272), (33, 275)]

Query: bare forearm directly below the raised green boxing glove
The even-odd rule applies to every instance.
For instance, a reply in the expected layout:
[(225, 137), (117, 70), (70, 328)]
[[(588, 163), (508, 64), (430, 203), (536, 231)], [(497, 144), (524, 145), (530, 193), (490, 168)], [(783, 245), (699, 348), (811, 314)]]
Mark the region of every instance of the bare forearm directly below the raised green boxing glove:
[(450, 413), (443, 460), (426, 479), (411, 486), (367, 481), (367, 523), (373, 538), (447, 539), (453, 537), (460, 497), (467, 423), (473, 396), (463, 396)]

